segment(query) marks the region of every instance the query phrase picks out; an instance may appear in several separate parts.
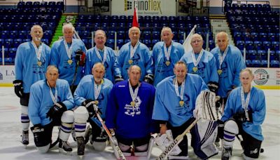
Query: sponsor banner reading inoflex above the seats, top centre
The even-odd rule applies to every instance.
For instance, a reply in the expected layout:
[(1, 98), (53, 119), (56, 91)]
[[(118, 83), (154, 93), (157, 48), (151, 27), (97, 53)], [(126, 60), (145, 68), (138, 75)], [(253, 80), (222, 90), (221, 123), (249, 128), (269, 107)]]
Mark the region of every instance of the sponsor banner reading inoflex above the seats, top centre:
[(111, 15), (133, 15), (137, 3), (138, 15), (176, 16), (175, 0), (113, 0)]

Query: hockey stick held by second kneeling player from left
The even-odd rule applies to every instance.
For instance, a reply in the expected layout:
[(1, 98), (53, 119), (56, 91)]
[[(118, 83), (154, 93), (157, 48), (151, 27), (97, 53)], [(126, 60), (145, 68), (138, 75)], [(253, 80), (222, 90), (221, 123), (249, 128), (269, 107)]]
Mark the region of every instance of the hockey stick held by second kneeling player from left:
[(113, 140), (113, 136), (111, 135), (109, 129), (107, 128), (107, 126), (104, 124), (103, 119), (101, 118), (101, 116), (99, 115), (99, 113), (97, 114), (97, 119), (99, 119), (99, 121), (101, 122), (104, 130), (106, 131), (107, 135), (109, 136), (109, 139), (111, 141), (111, 145), (113, 147), (113, 151), (115, 153), (115, 156), (117, 159), (122, 159), (122, 160), (126, 160), (125, 155), (123, 155), (122, 150), (120, 150), (120, 147), (118, 147), (118, 144), (116, 144)]

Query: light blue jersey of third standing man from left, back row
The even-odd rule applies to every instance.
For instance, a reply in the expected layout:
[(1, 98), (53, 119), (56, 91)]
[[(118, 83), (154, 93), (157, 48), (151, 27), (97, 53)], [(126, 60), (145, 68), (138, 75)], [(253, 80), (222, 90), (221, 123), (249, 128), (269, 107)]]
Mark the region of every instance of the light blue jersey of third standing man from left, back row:
[(99, 51), (100, 60), (99, 56), (95, 52), (96, 50), (94, 48), (90, 48), (87, 50), (87, 57), (86, 57), (86, 62), (85, 62), (85, 75), (87, 74), (92, 74), (92, 67), (95, 63), (97, 62), (102, 62), (104, 61), (104, 53), (106, 53), (106, 61), (104, 62), (104, 67), (106, 69), (106, 74), (104, 78), (109, 79), (110, 81), (114, 82), (115, 79), (113, 77), (113, 65), (116, 60), (116, 55), (113, 51), (112, 48), (109, 47), (104, 47), (104, 51)]

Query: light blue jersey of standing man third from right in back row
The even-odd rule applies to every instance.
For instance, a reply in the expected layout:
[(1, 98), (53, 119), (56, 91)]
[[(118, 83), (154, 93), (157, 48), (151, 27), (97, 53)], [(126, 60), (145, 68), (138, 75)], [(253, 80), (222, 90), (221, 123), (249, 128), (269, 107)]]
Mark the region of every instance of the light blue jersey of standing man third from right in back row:
[(167, 60), (165, 56), (164, 46), (165, 42), (163, 41), (159, 41), (157, 44), (155, 44), (155, 46), (153, 46), (152, 57), (155, 64), (155, 78), (153, 81), (154, 86), (157, 86), (157, 84), (167, 76), (174, 75), (174, 65), (181, 59), (181, 57), (185, 53), (185, 50), (181, 44), (172, 41), (170, 57), (169, 60)]

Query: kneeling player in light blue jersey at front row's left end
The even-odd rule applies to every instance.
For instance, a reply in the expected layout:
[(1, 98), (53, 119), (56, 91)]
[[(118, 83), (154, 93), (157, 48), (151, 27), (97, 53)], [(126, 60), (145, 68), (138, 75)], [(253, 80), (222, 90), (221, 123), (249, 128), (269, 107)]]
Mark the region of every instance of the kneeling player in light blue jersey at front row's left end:
[(73, 96), (69, 84), (64, 79), (58, 79), (57, 67), (48, 66), (46, 79), (37, 81), (30, 89), (30, 102), (28, 113), (34, 126), (34, 142), (39, 152), (48, 152), (52, 143), (52, 128), (60, 126), (59, 152), (71, 152), (67, 144), (73, 126), (74, 107)]

